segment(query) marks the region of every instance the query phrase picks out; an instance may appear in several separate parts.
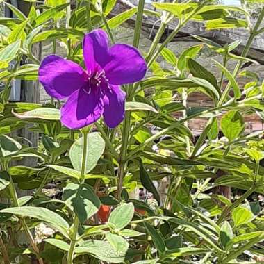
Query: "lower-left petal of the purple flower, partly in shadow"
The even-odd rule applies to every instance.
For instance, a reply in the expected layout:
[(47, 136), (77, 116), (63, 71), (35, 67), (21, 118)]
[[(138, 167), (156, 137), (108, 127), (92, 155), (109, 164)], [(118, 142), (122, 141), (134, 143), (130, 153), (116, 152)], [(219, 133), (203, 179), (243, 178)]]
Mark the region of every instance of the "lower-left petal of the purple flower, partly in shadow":
[(104, 111), (99, 93), (87, 94), (80, 89), (61, 108), (61, 122), (69, 129), (81, 129), (96, 122)]

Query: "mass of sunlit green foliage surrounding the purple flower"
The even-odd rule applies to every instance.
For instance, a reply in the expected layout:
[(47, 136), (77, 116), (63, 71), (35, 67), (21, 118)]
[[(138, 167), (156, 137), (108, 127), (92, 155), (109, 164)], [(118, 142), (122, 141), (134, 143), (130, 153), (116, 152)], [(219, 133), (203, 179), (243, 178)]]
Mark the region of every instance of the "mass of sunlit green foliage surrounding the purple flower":
[[(245, 6), (210, 1), (153, 3), (157, 10), (150, 12), (140, 0), (138, 7), (111, 18), (115, 0), (76, 0), (75, 6), (27, 0), (26, 15), (2, 2), (15, 15), (0, 19), (0, 80), (5, 83), (0, 94), (2, 263), (238, 263), (263, 255), (261, 206), (248, 199), (264, 190), (263, 131), (247, 132), (244, 118), (264, 116), (263, 83), (257, 74), (242, 72), (242, 65), (250, 60), (254, 38), (264, 31), (264, 9), (252, 26)], [(240, 19), (232, 17), (233, 11)], [(67, 59), (83, 66), (85, 33), (104, 28), (115, 42), (112, 29), (135, 17), (133, 46), (138, 48), (143, 13), (160, 17), (161, 24), (145, 54), (147, 77), (122, 86), (126, 115), (115, 129), (99, 119), (90, 127), (70, 130), (60, 123), (63, 102), (9, 100), (14, 79), (38, 80), (35, 44), (52, 42), (56, 53), (56, 44), (64, 43)], [(163, 39), (174, 19), (176, 27)], [(190, 20), (204, 22), (207, 30), (247, 29), (241, 56), (233, 54), (238, 42), (222, 47), (201, 37), (201, 45), (179, 56), (167, 49)], [(222, 56), (223, 63), (212, 61), (221, 79), (197, 61), (203, 45)], [(160, 66), (161, 57), (168, 67)], [(231, 58), (237, 60), (233, 72), (226, 68)], [(244, 89), (238, 74), (249, 76)], [(211, 99), (212, 106), (188, 107), (194, 92)], [(207, 124), (195, 139), (188, 122), (197, 118)], [(41, 147), (13, 136), (22, 128), (39, 133)], [(38, 163), (15, 165), (24, 158)], [(153, 183), (162, 179), (168, 185), (165, 199)], [(60, 195), (44, 192), (48, 184)], [(219, 186), (239, 190), (239, 197), (217, 194)], [(158, 204), (132, 199), (131, 192), (139, 187), (151, 192)], [(17, 189), (35, 190), (18, 197)], [(38, 242), (31, 231), (40, 223), (53, 232)], [(19, 242), (21, 232), (26, 242)]]

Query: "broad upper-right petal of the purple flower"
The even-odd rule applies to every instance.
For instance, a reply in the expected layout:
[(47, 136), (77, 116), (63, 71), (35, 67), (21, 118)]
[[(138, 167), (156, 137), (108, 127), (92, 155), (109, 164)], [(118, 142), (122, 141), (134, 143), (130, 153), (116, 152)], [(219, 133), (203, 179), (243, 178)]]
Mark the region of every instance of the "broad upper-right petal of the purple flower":
[(140, 81), (147, 65), (138, 49), (126, 44), (115, 44), (109, 50), (110, 61), (104, 67), (110, 84), (122, 85)]

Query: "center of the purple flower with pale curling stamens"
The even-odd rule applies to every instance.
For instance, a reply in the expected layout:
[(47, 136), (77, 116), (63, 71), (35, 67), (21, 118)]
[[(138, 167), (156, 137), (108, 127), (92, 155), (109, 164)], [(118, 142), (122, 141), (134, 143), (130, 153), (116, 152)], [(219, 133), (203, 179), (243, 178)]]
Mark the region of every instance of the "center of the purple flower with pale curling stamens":
[(90, 94), (91, 92), (101, 92), (101, 84), (107, 83), (107, 81), (103, 69), (100, 72), (88, 74), (85, 82), (86, 85), (83, 86), (83, 91), (87, 94)]

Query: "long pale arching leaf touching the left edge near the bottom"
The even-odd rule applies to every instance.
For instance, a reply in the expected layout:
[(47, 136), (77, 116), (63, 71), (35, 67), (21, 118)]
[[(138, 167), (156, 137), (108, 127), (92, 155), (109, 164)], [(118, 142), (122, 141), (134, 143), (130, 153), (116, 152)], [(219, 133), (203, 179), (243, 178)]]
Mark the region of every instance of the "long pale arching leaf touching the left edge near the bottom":
[(64, 236), (68, 237), (69, 224), (66, 220), (54, 213), (53, 211), (41, 208), (41, 207), (33, 207), (33, 206), (24, 206), (24, 207), (12, 207), (6, 208), (0, 211), (1, 213), (13, 213), (14, 215), (19, 215), (21, 217), (32, 217), (36, 218), (42, 222), (46, 222), (51, 224), (54, 228), (58, 229), (60, 233)]

